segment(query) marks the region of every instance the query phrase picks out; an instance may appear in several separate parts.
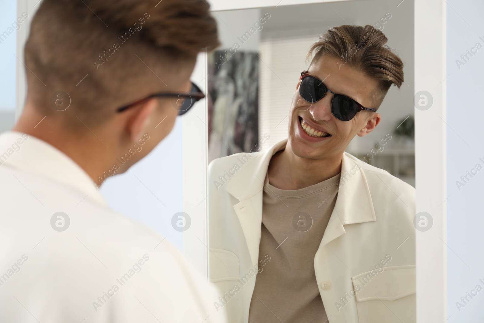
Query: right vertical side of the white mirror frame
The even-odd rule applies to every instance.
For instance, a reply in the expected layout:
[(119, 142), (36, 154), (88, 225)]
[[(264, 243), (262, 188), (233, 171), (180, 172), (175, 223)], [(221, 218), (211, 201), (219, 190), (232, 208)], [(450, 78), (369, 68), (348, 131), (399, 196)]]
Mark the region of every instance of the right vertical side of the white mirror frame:
[(414, 93), (432, 92), (434, 99), (431, 109), (415, 109), (416, 213), (434, 217), (432, 230), (416, 232), (418, 323), (448, 320), (447, 128), (442, 122), (447, 115), (446, 5), (440, 0), (415, 0)]

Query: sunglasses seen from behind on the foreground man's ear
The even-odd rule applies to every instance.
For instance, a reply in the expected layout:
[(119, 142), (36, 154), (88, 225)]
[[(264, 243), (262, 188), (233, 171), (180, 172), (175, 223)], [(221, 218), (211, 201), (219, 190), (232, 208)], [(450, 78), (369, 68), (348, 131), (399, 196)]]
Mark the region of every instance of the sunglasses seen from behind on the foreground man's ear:
[(140, 99), (137, 99), (135, 102), (122, 106), (121, 108), (118, 108), (116, 111), (122, 112), (138, 104), (145, 103), (146, 101), (150, 100), (153, 97), (178, 97), (178, 99), (172, 105), (174, 108), (178, 110), (178, 115), (181, 116), (182, 114), (185, 114), (190, 108), (192, 108), (195, 102), (203, 99), (205, 97), (205, 94), (203, 94), (202, 90), (200, 90), (200, 88), (198, 88), (198, 86), (192, 82), (192, 88), (188, 93), (166, 93), (166, 92), (153, 93), (153, 94), (144, 96)]

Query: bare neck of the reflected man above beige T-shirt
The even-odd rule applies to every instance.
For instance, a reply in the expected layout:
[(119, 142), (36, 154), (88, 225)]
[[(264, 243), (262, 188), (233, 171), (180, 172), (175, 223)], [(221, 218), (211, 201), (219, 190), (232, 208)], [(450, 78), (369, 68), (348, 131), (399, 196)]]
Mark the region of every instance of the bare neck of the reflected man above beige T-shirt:
[(280, 189), (294, 190), (318, 184), (341, 172), (339, 158), (301, 158), (286, 147), (271, 158), (268, 168), (269, 183)]

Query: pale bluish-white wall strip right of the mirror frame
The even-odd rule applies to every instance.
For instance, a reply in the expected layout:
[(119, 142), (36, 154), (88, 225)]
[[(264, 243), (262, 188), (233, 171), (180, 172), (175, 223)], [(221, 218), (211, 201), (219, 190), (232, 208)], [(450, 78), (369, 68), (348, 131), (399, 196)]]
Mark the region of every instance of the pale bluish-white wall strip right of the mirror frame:
[[(447, 75), (450, 76), (446, 81), (447, 118), (442, 117), (448, 124), (444, 125), (449, 196), (448, 322), (484, 322), (484, 170), (475, 169), (473, 172), (477, 174), (473, 177), (467, 175), (477, 164), (484, 167), (484, 105), (479, 102), (484, 86), (484, 2), (448, 0), (448, 3)], [(460, 56), (477, 43), (482, 48), (474, 48), (473, 56), (463, 60)], [(457, 66), (457, 60), (464, 64)], [(466, 175), (467, 179), (460, 178)], [(476, 291), (477, 285), (482, 291)], [(474, 296), (469, 297), (468, 292)]]

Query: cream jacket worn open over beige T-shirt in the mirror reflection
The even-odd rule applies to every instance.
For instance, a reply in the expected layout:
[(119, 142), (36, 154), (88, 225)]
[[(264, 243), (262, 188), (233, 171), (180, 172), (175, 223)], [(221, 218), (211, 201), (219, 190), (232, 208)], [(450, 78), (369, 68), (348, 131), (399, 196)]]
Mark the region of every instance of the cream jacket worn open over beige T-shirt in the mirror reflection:
[[(209, 275), (222, 294), (214, 307), (227, 309), (230, 322), (248, 322), (257, 271), (270, 263), (271, 255), (258, 261), (263, 181), (286, 143), (209, 165)], [(414, 216), (411, 185), (343, 154), (338, 197), (314, 257), (330, 323), (416, 322)]]

